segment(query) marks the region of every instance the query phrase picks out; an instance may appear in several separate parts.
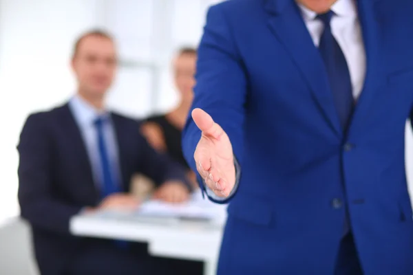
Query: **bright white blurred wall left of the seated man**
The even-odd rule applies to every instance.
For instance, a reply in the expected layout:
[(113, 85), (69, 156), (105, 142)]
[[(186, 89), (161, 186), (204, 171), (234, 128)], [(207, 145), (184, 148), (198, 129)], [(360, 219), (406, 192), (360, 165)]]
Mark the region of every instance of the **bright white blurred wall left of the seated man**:
[(16, 145), (32, 111), (75, 89), (68, 66), (74, 38), (98, 22), (98, 0), (0, 2), (0, 221), (18, 213)]

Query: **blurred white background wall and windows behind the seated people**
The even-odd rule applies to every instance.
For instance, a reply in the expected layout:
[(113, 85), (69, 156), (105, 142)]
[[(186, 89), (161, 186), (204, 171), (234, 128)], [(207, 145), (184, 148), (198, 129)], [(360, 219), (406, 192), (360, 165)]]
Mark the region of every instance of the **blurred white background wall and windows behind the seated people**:
[(219, 0), (0, 0), (0, 223), (19, 213), (17, 142), (29, 113), (68, 100), (75, 40), (92, 28), (116, 39), (120, 67), (109, 107), (145, 118), (178, 101), (171, 58), (196, 47)]

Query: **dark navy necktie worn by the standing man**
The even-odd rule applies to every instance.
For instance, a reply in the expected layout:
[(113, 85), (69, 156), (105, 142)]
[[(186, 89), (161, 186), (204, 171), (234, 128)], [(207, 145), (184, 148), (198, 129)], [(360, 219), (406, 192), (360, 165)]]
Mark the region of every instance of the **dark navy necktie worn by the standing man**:
[(317, 16), (324, 23), (319, 52), (324, 60), (324, 65), (326, 65), (328, 80), (341, 126), (346, 130), (352, 114), (354, 99), (346, 58), (331, 33), (330, 21), (333, 15), (334, 12), (330, 10)]

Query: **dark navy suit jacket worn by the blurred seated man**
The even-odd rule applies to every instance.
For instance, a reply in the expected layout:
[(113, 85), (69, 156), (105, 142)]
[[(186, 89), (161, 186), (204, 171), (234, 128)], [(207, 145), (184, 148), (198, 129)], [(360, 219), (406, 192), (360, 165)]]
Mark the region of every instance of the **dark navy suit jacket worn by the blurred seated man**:
[[(146, 174), (156, 184), (186, 181), (183, 168), (147, 144), (138, 122), (116, 113), (112, 122), (125, 192), (135, 173)], [(72, 236), (70, 218), (100, 202), (85, 144), (68, 105), (30, 115), (18, 149), (21, 216), (32, 225), (37, 263), (41, 274), (63, 274), (77, 252), (97, 241)]]

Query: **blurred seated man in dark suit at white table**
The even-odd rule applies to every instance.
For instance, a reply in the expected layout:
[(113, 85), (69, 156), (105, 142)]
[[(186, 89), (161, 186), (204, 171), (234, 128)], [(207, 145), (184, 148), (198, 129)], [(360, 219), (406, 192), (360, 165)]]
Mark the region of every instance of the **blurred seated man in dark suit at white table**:
[(42, 275), (176, 274), (168, 261), (149, 256), (143, 243), (70, 234), (70, 219), (83, 211), (138, 207), (128, 195), (134, 173), (150, 177), (167, 201), (189, 195), (184, 169), (149, 146), (138, 122), (105, 109), (116, 63), (108, 34), (81, 36), (72, 57), (77, 94), (61, 107), (30, 115), (21, 132), (19, 203), (32, 225)]

